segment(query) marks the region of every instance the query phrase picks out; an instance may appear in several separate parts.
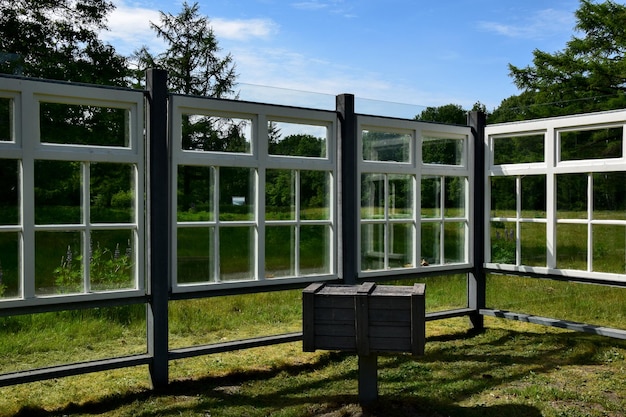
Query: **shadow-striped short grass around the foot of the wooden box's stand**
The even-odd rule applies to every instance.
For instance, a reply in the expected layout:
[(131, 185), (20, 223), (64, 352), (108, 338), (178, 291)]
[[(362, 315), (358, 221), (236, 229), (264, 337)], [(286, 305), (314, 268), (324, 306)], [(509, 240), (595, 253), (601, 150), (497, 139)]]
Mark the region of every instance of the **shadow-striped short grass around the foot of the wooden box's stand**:
[[(346, 381), (352, 381), (352, 387), (356, 384), (355, 356), (327, 352), (311, 364), (177, 380), (163, 392), (119, 394), (81, 405), (69, 404), (52, 412), (30, 407), (17, 415), (100, 415), (126, 409), (117, 415), (230, 416), (241, 410), (241, 414), (250, 416), (533, 417), (541, 416), (541, 410), (524, 398), (515, 403), (480, 403), (480, 395), (496, 387), (523, 384), (529, 373), (597, 364), (598, 351), (616, 343), (621, 342), (579, 333), (538, 334), (502, 329), (431, 337), (422, 357), (379, 357), (379, 399), (368, 407), (360, 407), (356, 395), (343, 394), (348, 391)], [(263, 389), (255, 388), (257, 382)], [(459, 405), (464, 401), (470, 405)], [(159, 402), (163, 407), (158, 409), (145, 406)], [(292, 414), (290, 408), (294, 410)]]

